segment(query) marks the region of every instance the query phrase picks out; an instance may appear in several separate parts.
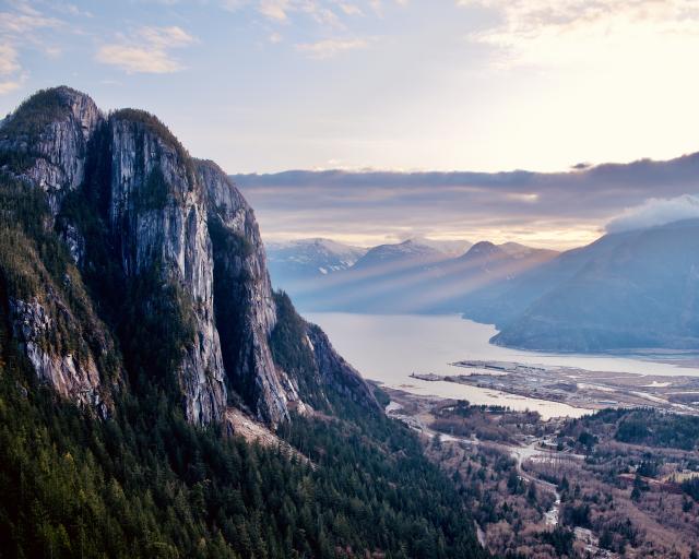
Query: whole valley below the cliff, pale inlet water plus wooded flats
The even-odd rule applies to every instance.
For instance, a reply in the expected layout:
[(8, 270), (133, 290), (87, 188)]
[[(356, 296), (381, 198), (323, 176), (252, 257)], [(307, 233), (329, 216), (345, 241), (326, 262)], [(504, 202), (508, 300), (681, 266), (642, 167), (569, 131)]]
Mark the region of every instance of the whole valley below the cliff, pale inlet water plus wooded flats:
[(491, 552), (696, 557), (692, 355), (507, 349), (459, 317), (312, 319), (388, 394), (387, 414), (420, 436)]

